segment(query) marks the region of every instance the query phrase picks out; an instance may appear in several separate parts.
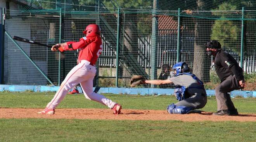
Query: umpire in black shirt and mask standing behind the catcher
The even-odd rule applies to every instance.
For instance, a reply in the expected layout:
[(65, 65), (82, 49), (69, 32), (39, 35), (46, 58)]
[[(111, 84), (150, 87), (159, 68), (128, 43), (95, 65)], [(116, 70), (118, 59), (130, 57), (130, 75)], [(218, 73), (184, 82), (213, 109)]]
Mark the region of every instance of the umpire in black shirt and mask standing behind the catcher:
[(219, 41), (208, 41), (205, 46), (206, 54), (214, 56), (214, 68), (221, 80), (220, 85), (215, 88), (217, 112), (213, 115), (238, 115), (229, 92), (245, 87), (243, 69), (234, 57), (221, 49)]

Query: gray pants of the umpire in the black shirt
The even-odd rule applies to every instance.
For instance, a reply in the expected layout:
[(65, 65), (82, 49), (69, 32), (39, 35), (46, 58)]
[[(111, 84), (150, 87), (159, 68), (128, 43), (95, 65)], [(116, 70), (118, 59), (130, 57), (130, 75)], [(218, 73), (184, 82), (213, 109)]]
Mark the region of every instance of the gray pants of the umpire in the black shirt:
[(230, 98), (229, 92), (239, 89), (239, 81), (233, 75), (228, 76), (220, 85), (215, 88), (215, 96), (217, 100), (217, 111), (219, 110), (235, 110), (235, 106)]

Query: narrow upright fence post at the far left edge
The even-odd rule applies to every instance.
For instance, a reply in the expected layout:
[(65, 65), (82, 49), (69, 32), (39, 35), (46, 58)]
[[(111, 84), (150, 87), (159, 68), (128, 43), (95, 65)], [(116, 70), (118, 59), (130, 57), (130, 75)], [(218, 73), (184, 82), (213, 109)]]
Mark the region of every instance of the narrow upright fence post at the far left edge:
[(5, 8), (2, 8), (2, 49), (1, 49), (1, 76), (0, 76), (0, 81), (1, 84), (3, 84), (3, 73), (4, 73), (4, 33), (5, 33)]

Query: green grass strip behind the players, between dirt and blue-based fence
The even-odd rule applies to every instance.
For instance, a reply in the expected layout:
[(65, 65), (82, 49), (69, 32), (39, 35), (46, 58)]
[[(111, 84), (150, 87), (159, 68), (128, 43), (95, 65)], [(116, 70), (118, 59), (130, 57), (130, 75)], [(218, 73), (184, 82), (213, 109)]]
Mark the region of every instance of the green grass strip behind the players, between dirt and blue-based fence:
[[(45, 108), (55, 93), (36, 92), (6, 92), (0, 93), (0, 107), (4, 108)], [(112, 101), (120, 103), (125, 109), (165, 110), (166, 106), (176, 103), (175, 96), (142, 96), (103, 94)], [(240, 113), (256, 113), (256, 98), (232, 98)], [(90, 101), (84, 95), (67, 95), (57, 108), (107, 108), (95, 101)], [(208, 102), (201, 110), (215, 112), (217, 103), (215, 97), (208, 97)]]

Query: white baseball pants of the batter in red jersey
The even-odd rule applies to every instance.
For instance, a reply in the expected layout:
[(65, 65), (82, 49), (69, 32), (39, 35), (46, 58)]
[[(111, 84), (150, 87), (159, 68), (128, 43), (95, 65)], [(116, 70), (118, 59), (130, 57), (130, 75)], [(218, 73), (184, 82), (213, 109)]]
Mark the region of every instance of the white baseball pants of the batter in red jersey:
[(112, 108), (116, 103), (107, 99), (103, 95), (99, 95), (93, 92), (93, 78), (96, 73), (95, 66), (90, 65), (89, 61), (81, 60), (78, 65), (76, 65), (69, 73), (67, 74), (64, 81), (61, 83), (61, 86), (54, 98), (47, 107), (55, 109), (59, 103), (64, 99), (67, 92), (74, 86), (80, 83), (83, 93), (86, 99), (97, 101), (103, 105)]

